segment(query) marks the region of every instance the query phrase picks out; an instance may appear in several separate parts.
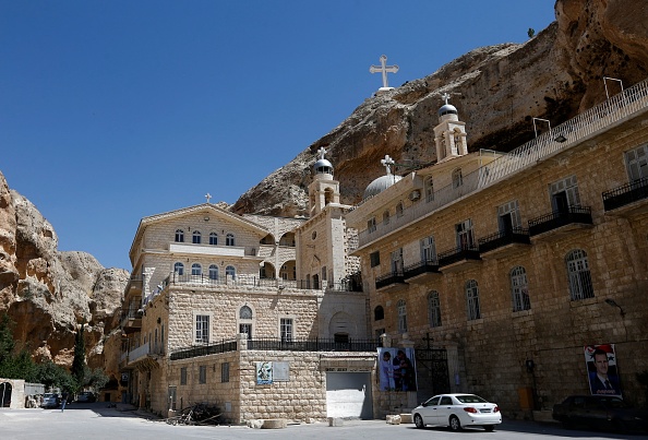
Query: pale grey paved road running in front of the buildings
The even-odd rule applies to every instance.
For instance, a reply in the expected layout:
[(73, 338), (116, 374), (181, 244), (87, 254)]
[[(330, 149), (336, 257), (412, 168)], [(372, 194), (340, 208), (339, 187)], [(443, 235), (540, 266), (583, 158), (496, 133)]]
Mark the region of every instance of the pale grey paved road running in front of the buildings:
[(289, 425), (285, 429), (251, 429), (243, 426), (171, 426), (148, 420), (135, 412), (108, 408), (105, 403), (72, 404), (60, 409), (0, 409), (0, 439), (648, 439), (644, 435), (615, 435), (584, 430), (565, 430), (554, 424), (505, 420), (495, 432), (467, 429), (451, 432), (443, 428), (416, 429), (413, 425), (387, 425), (384, 420), (345, 420), (340, 427), (327, 424)]

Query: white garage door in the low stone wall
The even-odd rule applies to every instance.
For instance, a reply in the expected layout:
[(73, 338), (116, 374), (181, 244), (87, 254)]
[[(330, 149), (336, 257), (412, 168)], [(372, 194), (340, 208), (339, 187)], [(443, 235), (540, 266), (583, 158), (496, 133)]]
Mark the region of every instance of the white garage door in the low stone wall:
[(326, 373), (326, 416), (373, 418), (370, 372)]

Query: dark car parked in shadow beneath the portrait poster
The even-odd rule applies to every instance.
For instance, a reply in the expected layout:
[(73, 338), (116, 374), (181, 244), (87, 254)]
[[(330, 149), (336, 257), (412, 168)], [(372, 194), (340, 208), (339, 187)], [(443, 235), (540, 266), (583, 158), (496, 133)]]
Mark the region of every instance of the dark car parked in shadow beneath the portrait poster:
[(553, 405), (552, 417), (565, 428), (648, 431), (648, 409), (634, 408), (613, 395), (571, 395)]

